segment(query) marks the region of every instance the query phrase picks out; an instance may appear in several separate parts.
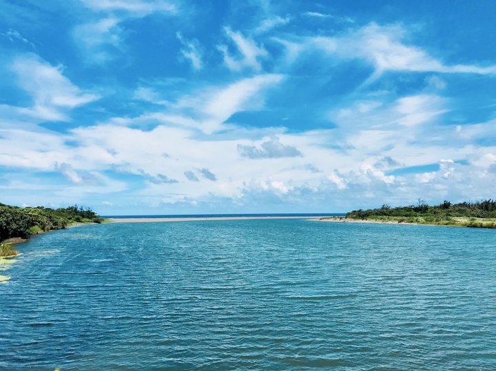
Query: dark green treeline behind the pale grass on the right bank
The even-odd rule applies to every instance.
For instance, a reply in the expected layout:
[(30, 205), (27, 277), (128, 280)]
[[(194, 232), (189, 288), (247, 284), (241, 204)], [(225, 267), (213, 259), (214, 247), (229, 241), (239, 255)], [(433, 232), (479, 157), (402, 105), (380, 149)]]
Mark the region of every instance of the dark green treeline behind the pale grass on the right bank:
[(355, 210), (347, 213), (347, 218), (365, 220), (373, 216), (388, 217), (434, 217), (434, 218), (496, 218), (496, 201), (485, 200), (480, 202), (461, 202), (451, 204), (444, 201), (442, 204), (430, 206), (419, 200), (416, 205), (391, 207), (383, 204), (380, 209)]

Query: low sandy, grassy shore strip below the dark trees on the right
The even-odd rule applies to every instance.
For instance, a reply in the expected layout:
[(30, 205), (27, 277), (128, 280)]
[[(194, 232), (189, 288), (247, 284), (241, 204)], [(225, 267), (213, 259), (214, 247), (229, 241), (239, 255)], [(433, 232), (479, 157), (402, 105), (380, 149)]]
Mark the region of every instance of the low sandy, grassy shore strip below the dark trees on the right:
[(465, 218), (453, 217), (448, 220), (422, 217), (395, 217), (395, 216), (369, 216), (365, 219), (352, 219), (346, 217), (324, 217), (319, 222), (340, 223), (373, 223), (373, 224), (412, 224), (431, 226), (459, 226), (468, 228), (496, 229), (496, 218)]

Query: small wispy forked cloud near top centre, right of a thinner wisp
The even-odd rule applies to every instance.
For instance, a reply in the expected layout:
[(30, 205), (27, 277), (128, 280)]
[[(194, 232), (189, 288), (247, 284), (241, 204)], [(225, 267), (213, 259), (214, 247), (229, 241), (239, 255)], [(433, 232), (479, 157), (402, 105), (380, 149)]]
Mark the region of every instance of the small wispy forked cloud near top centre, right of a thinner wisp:
[(252, 68), (260, 71), (262, 65), (258, 59), (267, 56), (267, 50), (258, 47), (253, 39), (243, 36), (240, 32), (234, 32), (229, 27), (225, 27), (226, 35), (233, 41), (238, 49), (238, 57), (231, 56), (227, 45), (218, 45), (217, 49), (224, 55), (224, 63), (231, 71), (240, 71), (243, 68)]

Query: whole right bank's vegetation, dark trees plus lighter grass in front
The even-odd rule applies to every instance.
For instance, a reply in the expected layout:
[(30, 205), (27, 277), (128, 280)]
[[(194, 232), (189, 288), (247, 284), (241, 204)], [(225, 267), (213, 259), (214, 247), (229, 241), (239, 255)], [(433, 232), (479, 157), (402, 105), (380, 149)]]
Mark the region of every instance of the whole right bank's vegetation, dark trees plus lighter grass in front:
[(429, 206), (419, 200), (416, 205), (411, 206), (391, 207), (384, 204), (380, 209), (355, 210), (347, 213), (346, 218), (376, 222), (496, 228), (496, 201), (459, 204), (444, 201), (442, 204)]

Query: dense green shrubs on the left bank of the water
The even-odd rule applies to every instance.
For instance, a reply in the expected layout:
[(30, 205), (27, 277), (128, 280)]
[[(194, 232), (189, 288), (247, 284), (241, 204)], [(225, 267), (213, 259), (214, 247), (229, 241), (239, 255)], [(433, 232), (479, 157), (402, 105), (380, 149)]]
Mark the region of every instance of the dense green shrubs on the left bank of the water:
[(33, 233), (64, 229), (76, 222), (101, 223), (103, 219), (91, 209), (69, 206), (63, 209), (8, 206), (0, 204), (0, 241), (12, 237), (28, 238)]

